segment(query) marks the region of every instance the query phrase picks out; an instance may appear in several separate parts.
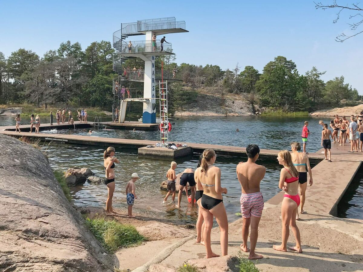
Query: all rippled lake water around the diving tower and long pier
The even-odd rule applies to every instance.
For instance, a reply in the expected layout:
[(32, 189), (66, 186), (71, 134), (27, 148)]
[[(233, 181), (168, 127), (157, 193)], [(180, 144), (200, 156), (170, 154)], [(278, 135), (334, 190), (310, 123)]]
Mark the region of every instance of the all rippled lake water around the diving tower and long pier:
[[(0, 125), (13, 125), (13, 117), (0, 116)], [(45, 118), (44, 118), (45, 119)], [(321, 118), (313, 117), (188, 117), (172, 120), (174, 129), (171, 132), (170, 140), (188, 141), (192, 143), (208, 143), (220, 145), (233, 145), (246, 147), (248, 144), (258, 144), (265, 149), (290, 149), (291, 141), (301, 141), (301, 130), (303, 122), (308, 120), (311, 135), (308, 139), (307, 150), (318, 151), (321, 141), (321, 125), (318, 121)], [(46, 119), (48, 121), (48, 119)], [(89, 118), (90, 121), (93, 118)], [(103, 121), (110, 119), (103, 118)], [(330, 119), (323, 118), (325, 123)], [(45, 122), (45, 120), (44, 120)], [(27, 120), (22, 121), (27, 124)], [(240, 132), (236, 132), (236, 129)], [(65, 133), (77, 135), (87, 134), (89, 129), (65, 129), (58, 130), (56, 127), (42, 133)], [(101, 129), (94, 131), (92, 136), (115, 137), (125, 139), (158, 140), (158, 131), (129, 131), (115, 129)], [(65, 143), (52, 143), (44, 150), (49, 157), (50, 165), (53, 168), (66, 170), (73, 166), (89, 167), (97, 176), (104, 176), (103, 173), (103, 149), (85, 145), (69, 145)], [(158, 213), (158, 216), (177, 219), (185, 222), (195, 222), (197, 210), (187, 205), (183, 197), (180, 211), (174, 209), (173, 205), (162, 205), (161, 202), (166, 192), (160, 190), (160, 182), (165, 180), (167, 169), (170, 168), (170, 160), (157, 158), (139, 158), (136, 150), (118, 148), (116, 156), (121, 164), (115, 168), (117, 176), (117, 189), (114, 194), (114, 206), (126, 207), (125, 186), (130, 180), (130, 175), (137, 172), (141, 177), (136, 186), (140, 199), (135, 202), (135, 209), (148, 210)], [(243, 155), (242, 155), (243, 156)], [(189, 158), (177, 160), (176, 172), (182, 172), (185, 168), (196, 168), (198, 156), (195, 154)], [(239, 198), (241, 194), (240, 184), (236, 176), (236, 165), (239, 161), (246, 160), (241, 156), (223, 157), (219, 156), (216, 166), (221, 168), (222, 185), (228, 188), (227, 196), (224, 196), (224, 204), (228, 212), (229, 221), (237, 219), (235, 213), (240, 213)], [(266, 176), (261, 182), (261, 191), (264, 200), (267, 201), (277, 194), (278, 178), (281, 166), (276, 160), (259, 160), (259, 164), (266, 166)], [(72, 197), (76, 206), (105, 206), (107, 188), (105, 185), (88, 184), (87, 182), (78, 187), (72, 188)], [(352, 199), (358, 200), (361, 195), (354, 195)], [(361, 198), (360, 198), (361, 199)], [(170, 198), (171, 200), (171, 198)], [(354, 217), (357, 213), (352, 207), (347, 207), (347, 217)]]

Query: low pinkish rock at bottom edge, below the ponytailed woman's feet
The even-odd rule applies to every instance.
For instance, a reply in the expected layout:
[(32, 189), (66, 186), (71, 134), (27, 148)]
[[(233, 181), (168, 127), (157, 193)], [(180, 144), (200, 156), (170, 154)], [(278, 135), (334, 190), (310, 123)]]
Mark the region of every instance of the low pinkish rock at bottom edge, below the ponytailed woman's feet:
[(236, 267), (239, 259), (236, 256), (223, 256), (210, 259), (191, 259), (187, 261), (190, 265), (195, 265), (201, 272), (239, 272)]

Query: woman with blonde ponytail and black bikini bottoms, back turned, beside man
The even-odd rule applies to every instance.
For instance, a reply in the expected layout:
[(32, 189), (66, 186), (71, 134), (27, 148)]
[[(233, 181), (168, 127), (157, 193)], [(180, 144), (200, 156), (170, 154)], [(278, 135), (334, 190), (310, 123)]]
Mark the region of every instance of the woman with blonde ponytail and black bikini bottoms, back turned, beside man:
[(198, 188), (203, 187), (201, 198), (201, 211), (204, 218), (204, 245), (207, 251), (206, 258), (219, 257), (212, 252), (211, 230), (213, 227), (213, 216), (216, 218), (221, 234), (222, 256), (228, 254), (228, 221), (227, 213), (223, 204), (222, 193), (227, 194), (227, 188), (221, 187), (221, 170), (213, 166), (216, 161), (216, 153), (213, 149), (205, 149), (201, 166), (195, 170), (195, 181)]

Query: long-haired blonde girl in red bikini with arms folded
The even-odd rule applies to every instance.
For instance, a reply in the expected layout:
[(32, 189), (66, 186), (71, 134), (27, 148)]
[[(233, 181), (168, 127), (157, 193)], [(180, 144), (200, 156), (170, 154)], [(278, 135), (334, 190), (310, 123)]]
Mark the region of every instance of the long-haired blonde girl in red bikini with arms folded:
[(281, 169), (278, 187), (285, 191), (285, 195), (281, 203), (282, 242), (281, 245), (274, 245), (273, 249), (287, 251), (286, 245), (290, 234), (290, 224), (296, 241), (296, 246), (290, 247), (290, 250), (301, 253), (300, 231), (296, 225), (296, 214), (300, 204), (300, 197), (298, 195), (299, 172), (293, 165), (289, 151), (282, 150), (278, 152), (277, 160), (279, 164), (284, 166), (284, 168)]

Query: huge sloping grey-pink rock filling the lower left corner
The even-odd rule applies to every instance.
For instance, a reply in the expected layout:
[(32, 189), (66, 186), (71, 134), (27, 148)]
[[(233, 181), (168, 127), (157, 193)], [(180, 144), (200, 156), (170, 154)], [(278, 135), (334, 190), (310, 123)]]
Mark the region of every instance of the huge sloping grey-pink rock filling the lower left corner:
[(0, 135), (1, 271), (113, 271), (36, 148)]

